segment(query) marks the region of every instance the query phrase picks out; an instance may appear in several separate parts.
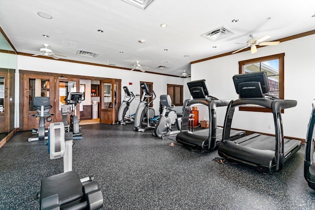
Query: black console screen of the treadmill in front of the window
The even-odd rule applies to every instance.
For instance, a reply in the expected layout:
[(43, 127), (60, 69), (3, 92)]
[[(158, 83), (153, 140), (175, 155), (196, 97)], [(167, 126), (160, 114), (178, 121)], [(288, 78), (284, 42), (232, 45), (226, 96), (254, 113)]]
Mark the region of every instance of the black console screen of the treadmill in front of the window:
[(267, 73), (264, 71), (233, 76), (236, 93), (241, 98), (264, 98), (269, 92)]

